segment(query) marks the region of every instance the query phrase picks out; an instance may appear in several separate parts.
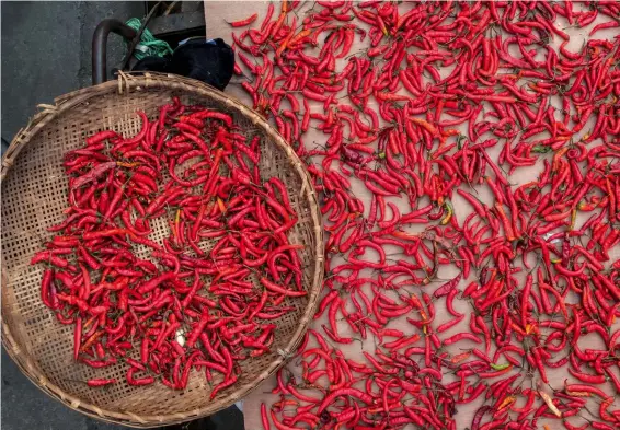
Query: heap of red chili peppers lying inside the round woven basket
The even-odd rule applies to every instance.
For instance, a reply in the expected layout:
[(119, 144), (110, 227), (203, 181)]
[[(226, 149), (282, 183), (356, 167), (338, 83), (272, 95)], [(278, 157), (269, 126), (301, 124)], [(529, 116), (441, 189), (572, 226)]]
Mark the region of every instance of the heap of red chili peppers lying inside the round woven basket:
[(135, 137), (101, 131), (66, 154), (67, 218), (32, 264), (47, 265), (41, 295), (73, 325), (78, 362), (175, 390), (204, 369), (214, 398), (306, 295), (303, 245), (287, 237), (298, 217), (285, 184), (261, 177), (260, 136), (229, 115), (179, 98), (138, 114)]

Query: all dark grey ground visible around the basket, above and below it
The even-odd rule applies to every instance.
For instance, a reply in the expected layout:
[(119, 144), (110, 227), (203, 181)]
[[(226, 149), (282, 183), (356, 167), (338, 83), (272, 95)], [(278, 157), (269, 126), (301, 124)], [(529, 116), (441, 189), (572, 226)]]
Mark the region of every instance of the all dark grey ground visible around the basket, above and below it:
[[(36, 105), (91, 83), (91, 39), (105, 18), (142, 18), (143, 2), (2, 2), (1, 136), (11, 141), (36, 112)], [(125, 54), (123, 40), (111, 35), (108, 66)], [(120, 430), (70, 410), (32, 384), (2, 349), (3, 430)], [(206, 429), (192, 425), (192, 429)], [(211, 417), (209, 430), (243, 429), (236, 409)]]

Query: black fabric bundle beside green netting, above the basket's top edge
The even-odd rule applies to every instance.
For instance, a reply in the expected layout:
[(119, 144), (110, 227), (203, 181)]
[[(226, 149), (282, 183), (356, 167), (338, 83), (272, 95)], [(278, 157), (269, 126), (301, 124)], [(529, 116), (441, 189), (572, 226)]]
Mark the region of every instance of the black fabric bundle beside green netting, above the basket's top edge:
[(221, 38), (216, 38), (208, 42), (190, 39), (180, 45), (172, 57), (146, 57), (133, 70), (175, 73), (223, 90), (233, 68), (232, 49)]

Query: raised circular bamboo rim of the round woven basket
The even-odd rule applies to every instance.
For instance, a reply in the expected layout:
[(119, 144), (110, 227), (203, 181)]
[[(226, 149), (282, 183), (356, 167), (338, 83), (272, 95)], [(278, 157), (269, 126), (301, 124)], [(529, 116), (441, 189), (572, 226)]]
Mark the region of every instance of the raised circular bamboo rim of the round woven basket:
[[(288, 146), (282, 135), (279, 135), (279, 132), (255, 111), (245, 106), (231, 95), (225, 94), (223, 92), (220, 92), (219, 90), (216, 90), (215, 88), (197, 80), (179, 77), (171, 73), (146, 72), (136, 74), (120, 72), (116, 81), (104, 82), (95, 86), (89, 86), (61, 95), (55, 98), (54, 105), (38, 105), (38, 107), (42, 108), (42, 112), (36, 114), (28, 121), (26, 127), (18, 131), (18, 133), (11, 141), (11, 144), (7, 150), (4, 156), (2, 158), (2, 164), (0, 167), (0, 185), (3, 187), (4, 178), (14, 164), (14, 160), (19, 156), (20, 152), (36, 137), (38, 131), (51, 120), (70, 111), (73, 106), (82, 104), (92, 97), (103, 94), (117, 92), (122, 95), (130, 95), (136, 92), (143, 92), (154, 89), (184, 91), (187, 93), (194, 93), (196, 95), (210, 97), (232, 109), (237, 109), (240, 115), (248, 117), (255, 126), (261, 127), (265, 131), (268, 138), (271, 138), (276, 143), (276, 146), (284, 151), (286, 156), (291, 162), (292, 168), (298, 173), (301, 179), (300, 197), (303, 196), (303, 198), (309, 202), (310, 206), (310, 217), (312, 219), (313, 237), (315, 243), (314, 254), (317, 256), (317, 259), (314, 262), (314, 276), (312, 279), (312, 284), (308, 290), (308, 303), (299, 319), (299, 325), (290, 337), (286, 349), (278, 351), (279, 353), (277, 358), (272, 361), (272, 363), (265, 371), (263, 371), (252, 381), (239, 386), (237, 390), (234, 390), (223, 398), (218, 398), (214, 402), (210, 402), (205, 407), (186, 412), (149, 416), (139, 416), (128, 411), (118, 412), (114, 410), (102, 409), (93, 404), (83, 402), (76, 396), (66, 393), (64, 390), (47, 380), (45, 374), (38, 370), (37, 365), (34, 364), (32, 358), (27, 353), (24, 353), (22, 348), (20, 348), (11, 333), (9, 325), (5, 323), (4, 312), (7, 311), (2, 306), (0, 315), (0, 321), (2, 324), (2, 345), (4, 346), (4, 349), (7, 350), (9, 357), (13, 359), (13, 361), (18, 364), (20, 370), (26, 375), (28, 380), (31, 380), (44, 393), (64, 403), (73, 410), (80, 411), (87, 416), (94, 417), (103, 421), (120, 423), (135, 428), (150, 428), (162, 425), (174, 425), (213, 415), (218, 410), (231, 406), (242, 397), (250, 394), (253, 390), (259, 387), (263, 381), (274, 374), (292, 357), (292, 353), (301, 341), (303, 334), (312, 322), (312, 316), (314, 314), (321, 291), (324, 268), (323, 224), (319, 210), (318, 195), (314, 186), (312, 185), (310, 174), (308, 173), (299, 156)], [(1, 272), (2, 286), (7, 286), (9, 283), (9, 278), (7, 276), (8, 274), (7, 268), (4, 267), (4, 262), (1, 263)], [(2, 287), (2, 289), (4, 291), (4, 287)]]

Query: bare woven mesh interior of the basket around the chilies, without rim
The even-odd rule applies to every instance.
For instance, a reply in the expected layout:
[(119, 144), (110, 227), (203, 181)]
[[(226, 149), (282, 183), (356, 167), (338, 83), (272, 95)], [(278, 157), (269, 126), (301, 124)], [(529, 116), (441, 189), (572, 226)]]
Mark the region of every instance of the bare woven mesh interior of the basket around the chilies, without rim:
[[(90, 410), (100, 408), (113, 415), (136, 415), (146, 420), (159, 417), (158, 421), (163, 416), (169, 417), (169, 422), (174, 421), (171, 416), (183, 420), (187, 414), (213, 414), (229, 406), (251, 385), (268, 376), (275, 370), (274, 361), (282, 361), (278, 349), (286, 350), (298, 340), (292, 337), (315, 298), (315, 294), (309, 294), (285, 301), (285, 305), (296, 310), (275, 322), (278, 329), (273, 352), (241, 362), (243, 373), (239, 382), (222, 391), (213, 402), (208, 400), (211, 387), (203, 372), (193, 370), (187, 388), (175, 392), (161, 383), (148, 387), (127, 385), (124, 382), (126, 365), (122, 362), (106, 369), (92, 369), (73, 361), (73, 326), (58, 323), (54, 313), (43, 304), (39, 298), (43, 268), (30, 265), (32, 255), (53, 237), (46, 228), (65, 218), (67, 177), (62, 168), (64, 154), (81, 147), (84, 138), (103, 129), (113, 129), (125, 137), (134, 136), (141, 127), (136, 111), (143, 111), (152, 119), (158, 115), (158, 107), (174, 95), (185, 104), (203, 104), (228, 112), (242, 132), (262, 137), (261, 175), (263, 178), (277, 176), (287, 185), (291, 205), (299, 214), (298, 224), (289, 232), (289, 241), (306, 245), (299, 256), (303, 266), (303, 288), (309, 291), (317, 283), (318, 221), (312, 216), (315, 208), (311, 207), (309, 190), (302, 187), (302, 175), (262, 125), (255, 124), (233, 104), (192, 91), (168, 88), (141, 89), (129, 94), (108, 91), (60, 113), (30, 138), (7, 172), (2, 183), (1, 209), (2, 265), (7, 277), (2, 289), (2, 318), (19, 349), (13, 357), (22, 361), (22, 368), (33, 368), (30, 376), (35, 382), (47, 380), (58, 388), (57, 395), (73, 397), (66, 400), (69, 404), (72, 400), (73, 406), (78, 400), (81, 407)], [(153, 223), (152, 226), (153, 233), (149, 237), (156, 242), (169, 234), (165, 222), (159, 226)], [(138, 350), (136, 348), (134, 353)], [(122, 383), (91, 388), (84, 383), (91, 377), (117, 377)], [(218, 382), (215, 379), (214, 383)]]

